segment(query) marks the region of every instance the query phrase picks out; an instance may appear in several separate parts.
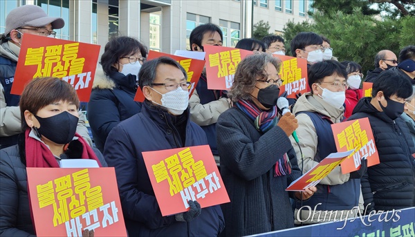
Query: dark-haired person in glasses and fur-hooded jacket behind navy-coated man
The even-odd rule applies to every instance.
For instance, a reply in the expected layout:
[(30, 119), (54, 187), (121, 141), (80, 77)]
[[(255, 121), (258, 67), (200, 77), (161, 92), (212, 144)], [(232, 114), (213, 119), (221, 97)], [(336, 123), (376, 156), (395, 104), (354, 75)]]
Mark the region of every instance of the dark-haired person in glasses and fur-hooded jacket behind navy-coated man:
[(122, 120), (140, 112), (134, 101), (138, 73), (146, 61), (147, 48), (133, 37), (112, 37), (105, 46), (92, 86), (86, 116), (95, 146), (103, 152), (108, 134)]

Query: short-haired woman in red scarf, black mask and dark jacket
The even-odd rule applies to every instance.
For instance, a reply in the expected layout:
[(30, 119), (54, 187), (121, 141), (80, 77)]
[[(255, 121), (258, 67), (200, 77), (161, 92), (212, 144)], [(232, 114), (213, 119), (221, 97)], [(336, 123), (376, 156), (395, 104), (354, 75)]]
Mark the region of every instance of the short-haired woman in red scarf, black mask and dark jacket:
[(19, 106), (24, 133), (17, 145), (0, 150), (0, 236), (35, 235), (26, 167), (58, 168), (65, 158), (107, 166), (100, 151), (75, 133), (80, 101), (73, 86), (55, 77), (34, 79)]

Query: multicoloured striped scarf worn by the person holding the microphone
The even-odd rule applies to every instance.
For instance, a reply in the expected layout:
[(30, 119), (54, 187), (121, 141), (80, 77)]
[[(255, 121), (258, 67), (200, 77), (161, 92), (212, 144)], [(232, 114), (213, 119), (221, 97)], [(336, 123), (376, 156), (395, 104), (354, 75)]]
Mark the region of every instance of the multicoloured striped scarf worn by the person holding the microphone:
[[(248, 115), (250, 119), (254, 120), (255, 129), (262, 133), (266, 133), (273, 127), (277, 126), (277, 106), (273, 106), (269, 111), (261, 111), (257, 105), (251, 101), (240, 99), (235, 103), (243, 113)], [(275, 175), (274, 176), (285, 176), (291, 173), (291, 163), (288, 160), (288, 155), (284, 153), (283, 157), (277, 160), (275, 164)]]

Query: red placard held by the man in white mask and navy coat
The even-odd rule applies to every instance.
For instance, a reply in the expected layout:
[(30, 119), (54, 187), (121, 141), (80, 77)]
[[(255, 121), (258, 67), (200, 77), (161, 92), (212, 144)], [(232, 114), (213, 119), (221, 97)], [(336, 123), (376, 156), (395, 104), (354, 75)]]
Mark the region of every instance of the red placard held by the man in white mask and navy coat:
[(187, 211), (188, 200), (201, 207), (230, 202), (208, 145), (142, 153), (161, 214)]

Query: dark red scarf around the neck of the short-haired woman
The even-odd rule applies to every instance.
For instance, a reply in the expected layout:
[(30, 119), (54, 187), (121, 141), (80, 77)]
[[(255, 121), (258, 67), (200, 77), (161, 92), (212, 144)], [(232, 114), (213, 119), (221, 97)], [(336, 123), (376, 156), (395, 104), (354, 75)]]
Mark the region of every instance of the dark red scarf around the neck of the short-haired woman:
[[(35, 138), (30, 138), (29, 133), (30, 129), (27, 129), (25, 133), (26, 167), (59, 168), (55, 155), (48, 149), (48, 146)], [(78, 141), (84, 146), (81, 159), (96, 160), (98, 165), (102, 167), (100, 160), (98, 160), (95, 152), (91, 146), (85, 142), (84, 138), (77, 133), (75, 133), (75, 137), (77, 137)]]

